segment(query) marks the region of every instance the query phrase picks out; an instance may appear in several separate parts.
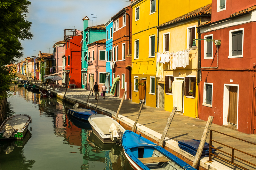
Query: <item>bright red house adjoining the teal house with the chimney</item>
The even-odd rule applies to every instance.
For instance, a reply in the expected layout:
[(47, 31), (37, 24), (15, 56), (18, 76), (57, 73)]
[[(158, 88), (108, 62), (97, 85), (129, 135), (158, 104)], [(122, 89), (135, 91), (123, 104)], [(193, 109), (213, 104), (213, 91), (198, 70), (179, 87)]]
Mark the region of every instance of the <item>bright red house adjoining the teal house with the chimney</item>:
[(75, 36), (66, 38), (65, 62), (66, 83), (70, 77), (69, 84), (75, 84), (76, 88), (81, 88), (81, 31), (76, 30)]

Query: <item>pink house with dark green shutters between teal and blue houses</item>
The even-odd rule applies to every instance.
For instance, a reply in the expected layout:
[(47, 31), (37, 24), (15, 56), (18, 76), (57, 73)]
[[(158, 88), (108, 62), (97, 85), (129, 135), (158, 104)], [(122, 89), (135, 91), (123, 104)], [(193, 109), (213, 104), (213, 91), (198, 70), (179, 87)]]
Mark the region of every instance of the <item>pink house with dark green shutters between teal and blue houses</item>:
[(85, 76), (85, 84), (87, 84), (87, 89), (91, 89), (95, 82), (98, 82), (100, 86), (100, 91), (102, 85), (105, 84), (106, 80), (106, 51), (104, 46), (106, 45), (106, 39), (95, 41), (88, 44), (87, 52), (87, 76)]

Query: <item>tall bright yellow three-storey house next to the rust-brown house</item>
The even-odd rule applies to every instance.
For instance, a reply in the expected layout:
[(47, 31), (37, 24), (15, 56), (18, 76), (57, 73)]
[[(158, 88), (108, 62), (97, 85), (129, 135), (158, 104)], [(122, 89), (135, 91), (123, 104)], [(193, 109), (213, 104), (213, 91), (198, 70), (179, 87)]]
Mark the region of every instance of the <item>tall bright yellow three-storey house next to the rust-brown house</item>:
[(132, 6), (132, 101), (156, 107), (158, 1), (136, 0)]

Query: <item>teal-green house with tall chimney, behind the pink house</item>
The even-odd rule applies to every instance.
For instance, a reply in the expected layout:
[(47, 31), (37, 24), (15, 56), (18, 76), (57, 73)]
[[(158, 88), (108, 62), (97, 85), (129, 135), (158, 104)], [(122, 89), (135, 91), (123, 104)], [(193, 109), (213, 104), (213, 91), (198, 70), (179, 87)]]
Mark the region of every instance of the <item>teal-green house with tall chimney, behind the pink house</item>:
[[(82, 70), (81, 70), (81, 84), (82, 88), (87, 89), (87, 85), (90, 82), (87, 82), (87, 68), (89, 60), (94, 60), (94, 56), (98, 54), (97, 51), (95, 51), (95, 55), (92, 53), (88, 53), (88, 47), (87, 45), (99, 41), (106, 38), (106, 27), (104, 24), (98, 25), (98, 26), (90, 26), (89, 27), (89, 18), (86, 16), (83, 18), (84, 21), (84, 29), (83, 29), (83, 39), (82, 39)], [(88, 75), (89, 76), (89, 75)]]

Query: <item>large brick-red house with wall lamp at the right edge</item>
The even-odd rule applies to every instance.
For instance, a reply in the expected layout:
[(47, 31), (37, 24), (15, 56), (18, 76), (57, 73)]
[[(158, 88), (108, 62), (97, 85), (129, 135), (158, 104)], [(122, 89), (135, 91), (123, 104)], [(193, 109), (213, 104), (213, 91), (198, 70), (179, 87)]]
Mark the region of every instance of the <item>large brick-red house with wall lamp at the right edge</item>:
[(255, 9), (254, 0), (213, 0), (212, 20), (197, 27), (198, 116), (247, 134), (256, 134)]

